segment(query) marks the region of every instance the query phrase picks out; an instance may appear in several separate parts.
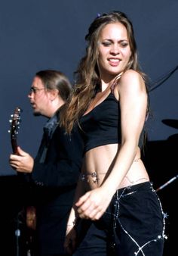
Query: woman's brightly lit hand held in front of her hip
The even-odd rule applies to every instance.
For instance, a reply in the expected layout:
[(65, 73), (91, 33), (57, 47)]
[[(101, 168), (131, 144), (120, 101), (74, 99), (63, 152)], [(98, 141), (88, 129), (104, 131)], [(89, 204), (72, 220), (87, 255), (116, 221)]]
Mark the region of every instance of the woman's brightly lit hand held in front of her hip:
[(75, 204), (78, 216), (82, 219), (99, 220), (108, 208), (112, 195), (102, 187), (87, 192)]

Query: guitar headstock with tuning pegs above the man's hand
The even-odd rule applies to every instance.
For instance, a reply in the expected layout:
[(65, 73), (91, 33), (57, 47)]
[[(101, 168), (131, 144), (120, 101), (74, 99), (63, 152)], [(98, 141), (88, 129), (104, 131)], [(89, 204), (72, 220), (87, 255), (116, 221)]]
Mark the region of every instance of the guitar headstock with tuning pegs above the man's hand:
[(11, 114), (11, 120), (9, 120), (11, 123), (11, 130), (9, 130), (9, 133), (11, 133), (11, 146), (14, 154), (17, 152), (17, 134), (20, 129), (21, 112), (21, 108), (15, 108), (14, 114)]

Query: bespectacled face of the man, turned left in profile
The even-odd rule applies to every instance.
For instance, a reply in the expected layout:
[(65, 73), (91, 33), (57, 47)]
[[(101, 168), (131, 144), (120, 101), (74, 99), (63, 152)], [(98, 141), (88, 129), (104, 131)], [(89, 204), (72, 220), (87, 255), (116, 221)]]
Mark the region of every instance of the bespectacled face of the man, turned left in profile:
[(46, 116), (50, 101), (49, 92), (48, 89), (44, 88), (44, 84), (38, 76), (35, 76), (32, 81), (28, 97), (33, 108), (33, 114)]

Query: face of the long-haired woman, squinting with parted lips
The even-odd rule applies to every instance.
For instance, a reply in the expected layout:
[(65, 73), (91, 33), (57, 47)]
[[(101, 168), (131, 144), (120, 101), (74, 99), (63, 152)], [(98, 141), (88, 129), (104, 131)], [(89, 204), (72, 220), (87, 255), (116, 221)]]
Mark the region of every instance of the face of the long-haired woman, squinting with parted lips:
[(102, 80), (109, 80), (121, 73), (130, 60), (127, 30), (121, 23), (109, 23), (99, 37), (98, 66)]

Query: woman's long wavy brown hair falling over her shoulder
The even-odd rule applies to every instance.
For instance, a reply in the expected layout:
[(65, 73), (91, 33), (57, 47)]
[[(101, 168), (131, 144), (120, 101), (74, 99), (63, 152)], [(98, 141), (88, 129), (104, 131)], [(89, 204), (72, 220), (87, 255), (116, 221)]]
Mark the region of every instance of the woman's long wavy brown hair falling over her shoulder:
[[(91, 99), (96, 94), (97, 86), (100, 86), (100, 73), (97, 66), (98, 42), (101, 30), (109, 23), (122, 23), (127, 30), (127, 37), (130, 44), (130, 61), (125, 70), (137, 70), (142, 76), (137, 60), (137, 45), (133, 35), (133, 26), (127, 16), (121, 11), (112, 11), (109, 14), (98, 15), (91, 23), (88, 33), (85, 36), (87, 41), (86, 54), (78, 64), (75, 71), (75, 86), (69, 101), (66, 103), (63, 113), (60, 116), (60, 124), (65, 127), (66, 132), (70, 133), (72, 127), (84, 114)], [(124, 71), (125, 71), (124, 70)]]

